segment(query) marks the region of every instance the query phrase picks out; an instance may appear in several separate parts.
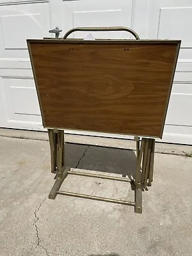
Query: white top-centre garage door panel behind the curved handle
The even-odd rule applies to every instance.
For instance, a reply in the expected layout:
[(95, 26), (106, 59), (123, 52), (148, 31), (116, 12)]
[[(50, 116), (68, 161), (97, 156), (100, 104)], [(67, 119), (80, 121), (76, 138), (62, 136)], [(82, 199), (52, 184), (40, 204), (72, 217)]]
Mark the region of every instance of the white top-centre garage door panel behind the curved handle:
[[(131, 27), (132, 0), (120, 1), (63, 1), (64, 31), (79, 26)], [(68, 19), (66, 23), (64, 19)], [(72, 33), (69, 38), (84, 38), (88, 32)], [(130, 38), (126, 32), (93, 32), (95, 38)]]

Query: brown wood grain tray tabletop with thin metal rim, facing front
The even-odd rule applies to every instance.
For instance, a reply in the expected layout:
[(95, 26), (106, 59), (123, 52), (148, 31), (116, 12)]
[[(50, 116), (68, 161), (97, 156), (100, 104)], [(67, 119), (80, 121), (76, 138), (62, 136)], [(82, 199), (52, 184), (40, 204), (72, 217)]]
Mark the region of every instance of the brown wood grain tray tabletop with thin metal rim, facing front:
[(28, 40), (44, 127), (161, 138), (179, 46)]

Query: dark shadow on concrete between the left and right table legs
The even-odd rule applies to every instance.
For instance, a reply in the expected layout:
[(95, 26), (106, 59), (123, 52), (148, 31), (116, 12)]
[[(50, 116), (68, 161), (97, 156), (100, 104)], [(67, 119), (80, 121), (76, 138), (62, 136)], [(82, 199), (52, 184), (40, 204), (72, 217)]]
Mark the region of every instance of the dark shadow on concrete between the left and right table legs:
[[(85, 149), (84, 149), (85, 148)], [(118, 148), (106, 148), (97, 146), (82, 146), (66, 143), (65, 152), (69, 155), (76, 154), (81, 150), (81, 158), (79, 154), (73, 159), (67, 157), (66, 164), (71, 168), (82, 170), (90, 170), (97, 172), (108, 172), (122, 175), (122, 177), (134, 178), (136, 170), (136, 155), (132, 150), (124, 150)], [(77, 164), (76, 164), (77, 163)]]

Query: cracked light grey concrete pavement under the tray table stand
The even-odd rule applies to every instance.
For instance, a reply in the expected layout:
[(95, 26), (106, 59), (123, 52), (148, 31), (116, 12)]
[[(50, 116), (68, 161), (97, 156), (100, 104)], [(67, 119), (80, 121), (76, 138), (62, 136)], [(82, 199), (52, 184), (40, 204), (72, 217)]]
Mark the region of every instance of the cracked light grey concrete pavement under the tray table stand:
[[(66, 144), (81, 172), (130, 177), (132, 150)], [(58, 195), (48, 141), (0, 137), (1, 256), (191, 256), (192, 158), (156, 154), (154, 182), (134, 207)], [(61, 190), (134, 200), (127, 182), (68, 175)]]

